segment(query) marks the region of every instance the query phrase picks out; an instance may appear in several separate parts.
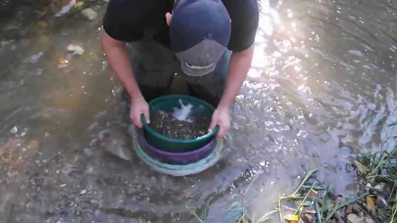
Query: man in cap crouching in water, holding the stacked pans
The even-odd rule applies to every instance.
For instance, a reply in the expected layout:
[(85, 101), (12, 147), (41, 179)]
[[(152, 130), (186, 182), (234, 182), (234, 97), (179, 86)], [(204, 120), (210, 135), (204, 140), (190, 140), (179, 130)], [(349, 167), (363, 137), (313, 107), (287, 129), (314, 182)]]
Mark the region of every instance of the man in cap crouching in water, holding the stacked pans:
[(209, 131), (230, 128), (234, 104), (251, 66), (259, 10), (256, 0), (112, 0), (102, 46), (131, 99), (130, 117), (149, 123), (148, 101), (176, 74), (189, 92), (212, 104)]

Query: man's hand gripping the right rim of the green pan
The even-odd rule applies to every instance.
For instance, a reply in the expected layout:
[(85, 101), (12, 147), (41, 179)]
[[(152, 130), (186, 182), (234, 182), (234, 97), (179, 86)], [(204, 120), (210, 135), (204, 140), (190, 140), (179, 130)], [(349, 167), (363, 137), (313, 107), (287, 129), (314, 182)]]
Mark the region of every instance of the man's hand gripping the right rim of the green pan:
[(223, 138), (230, 128), (230, 111), (228, 108), (217, 108), (212, 114), (212, 120), (210, 129), (208, 131), (214, 131), (216, 125), (219, 125), (219, 131), (216, 134), (217, 137)]

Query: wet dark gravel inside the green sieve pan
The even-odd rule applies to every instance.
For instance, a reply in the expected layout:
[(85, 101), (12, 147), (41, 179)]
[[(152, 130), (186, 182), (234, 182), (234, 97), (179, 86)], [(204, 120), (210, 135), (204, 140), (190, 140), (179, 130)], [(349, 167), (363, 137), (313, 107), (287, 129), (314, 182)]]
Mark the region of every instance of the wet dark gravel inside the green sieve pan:
[(210, 126), (210, 118), (196, 115), (190, 121), (179, 121), (170, 113), (156, 110), (150, 112), (149, 126), (168, 138), (193, 139), (205, 135)]

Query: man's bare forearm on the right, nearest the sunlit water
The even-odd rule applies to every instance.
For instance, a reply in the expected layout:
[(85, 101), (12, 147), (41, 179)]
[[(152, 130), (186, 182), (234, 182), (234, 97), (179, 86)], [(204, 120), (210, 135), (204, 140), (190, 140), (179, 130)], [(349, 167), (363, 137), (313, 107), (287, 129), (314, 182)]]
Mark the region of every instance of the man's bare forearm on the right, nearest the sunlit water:
[(253, 53), (254, 45), (242, 52), (231, 54), (229, 70), (227, 71), (227, 80), (218, 108), (229, 109), (234, 103), (234, 100), (247, 77), (249, 68), (251, 67)]

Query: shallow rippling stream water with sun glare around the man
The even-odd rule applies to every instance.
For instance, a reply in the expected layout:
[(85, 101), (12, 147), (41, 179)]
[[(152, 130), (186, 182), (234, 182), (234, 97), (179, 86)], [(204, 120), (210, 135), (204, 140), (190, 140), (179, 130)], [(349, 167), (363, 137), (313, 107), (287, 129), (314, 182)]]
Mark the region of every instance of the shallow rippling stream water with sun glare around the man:
[[(387, 126), (397, 118), (397, 2), (259, 5), (222, 159), (171, 177), (131, 150), (122, 86), (100, 46), (106, 3), (86, 1), (98, 13), (89, 20), (73, 4), (62, 14), (50, 0), (0, 0), (0, 222), (187, 223), (197, 219), (185, 206), (201, 216), (207, 202), (208, 222), (233, 222), (231, 204), (255, 177), (246, 196), (258, 219), (324, 163), (321, 183), (354, 196), (347, 165), (397, 135)], [(119, 150), (129, 160), (108, 152)]]

